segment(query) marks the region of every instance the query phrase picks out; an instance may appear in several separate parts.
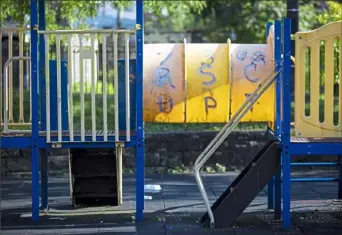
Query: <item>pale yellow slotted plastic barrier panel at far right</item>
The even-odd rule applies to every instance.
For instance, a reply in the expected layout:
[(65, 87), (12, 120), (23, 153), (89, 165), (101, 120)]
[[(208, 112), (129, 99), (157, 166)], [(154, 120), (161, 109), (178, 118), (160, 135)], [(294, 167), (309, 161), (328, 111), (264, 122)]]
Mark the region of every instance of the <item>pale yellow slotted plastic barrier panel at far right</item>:
[[(342, 137), (342, 21), (309, 32), (296, 33), (295, 135), (299, 137)], [(340, 40), (339, 74), (335, 74), (334, 41)], [(320, 59), (320, 44), (324, 41), (324, 58)], [(307, 53), (310, 51), (310, 54)], [(321, 65), (324, 61), (324, 66)], [(307, 63), (306, 63), (307, 62)], [(310, 62), (310, 63), (308, 63)], [(320, 93), (320, 74), (324, 74), (324, 93)], [(339, 81), (339, 97), (334, 97), (334, 78)], [(310, 99), (305, 99), (305, 96)], [(324, 96), (324, 120), (320, 122), (320, 96)], [(334, 99), (339, 99), (338, 125), (334, 125)], [(306, 104), (307, 102), (307, 104)], [(310, 107), (305, 111), (305, 106)]]

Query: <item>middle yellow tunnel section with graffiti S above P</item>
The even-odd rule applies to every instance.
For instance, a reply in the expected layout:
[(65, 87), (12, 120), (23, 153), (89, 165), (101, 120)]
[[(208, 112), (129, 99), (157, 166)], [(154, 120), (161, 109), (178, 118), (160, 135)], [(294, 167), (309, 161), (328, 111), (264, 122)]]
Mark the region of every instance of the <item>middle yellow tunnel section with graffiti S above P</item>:
[(228, 44), (186, 45), (186, 122), (227, 122)]

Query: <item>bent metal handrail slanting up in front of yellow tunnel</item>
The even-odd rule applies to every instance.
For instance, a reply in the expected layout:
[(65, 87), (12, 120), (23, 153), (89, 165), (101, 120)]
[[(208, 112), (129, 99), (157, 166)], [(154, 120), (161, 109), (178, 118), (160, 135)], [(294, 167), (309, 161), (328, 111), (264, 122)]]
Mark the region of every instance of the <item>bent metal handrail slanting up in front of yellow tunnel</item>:
[(221, 129), (221, 131), (215, 136), (215, 138), (210, 142), (206, 149), (201, 153), (201, 155), (196, 159), (195, 162), (195, 178), (197, 186), (201, 192), (203, 201), (207, 208), (207, 212), (210, 218), (210, 227), (215, 226), (214, 215), (211, 210), (209, 199), (207, 193), (204, 189), (203, 182), (200, 176), (200, 169), (205, 164), (206, 161), (211, 157), (211, 155), (216, 151), (216, 149), (222, 144), (222, 142), (227, 138), (227, 136), (233, 131), (237, 124), (241, 121), (244, 115), (253, 107), (255, 102), (260, 98), (260, 96), (271, 86), (271, 84), (276, 80), (277, 75), (280, 71), (268, 76), (267, 79), (262, 81), (254, 92), (245, 100), (240, 109), (234, 114), (231, 120)]

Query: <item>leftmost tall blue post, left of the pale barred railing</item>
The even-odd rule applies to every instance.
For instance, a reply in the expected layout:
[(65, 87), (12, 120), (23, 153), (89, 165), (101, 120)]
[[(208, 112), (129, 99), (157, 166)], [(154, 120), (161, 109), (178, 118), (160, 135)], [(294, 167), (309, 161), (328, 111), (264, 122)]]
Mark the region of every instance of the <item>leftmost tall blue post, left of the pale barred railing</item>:
[(39, 220), (39, 148), (38, 148), (38, 12), (37, 0), (31, 0), (31, 93), (32, 93), (32, 220)]

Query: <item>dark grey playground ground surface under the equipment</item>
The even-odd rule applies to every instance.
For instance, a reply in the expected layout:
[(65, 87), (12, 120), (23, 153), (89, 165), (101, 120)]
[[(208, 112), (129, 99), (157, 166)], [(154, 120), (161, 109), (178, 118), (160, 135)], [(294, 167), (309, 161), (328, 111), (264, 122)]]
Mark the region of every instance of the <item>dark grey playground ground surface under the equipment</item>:
[[(331, 175), (323, 171), (319, 174)], [(206, 175), (204, 184), (211, 203), (237, 176), (237, 172)], [(317, 172), (306, 172), (306, 176)], [(304, 175), (300, 173), (300, 175)], [(297, 175), (296, 175), (297, 176)], [(342, 235), (342, 202), (337, 183), (292, 183), (292, 228), (282, 230), (280, 220), (267, 209), (267, 187), (231, 228), (206, 229), (197, 221), (205, 208), (195, 178), (190, 174), (147, 174), (145, 184), (161, 191), (146, 193), (145, 219), (135, 221), (135, 178), (124, 176), (124, 204), (113, 207), (72, 208), (67, 176), (50, 176), (48, 215), (31, 221), (29, 177), (2, 179), (2, 231), (7, 234), (115, 234), (115, 235)], [(227, 211), (229, 213), (229, 211)]]

